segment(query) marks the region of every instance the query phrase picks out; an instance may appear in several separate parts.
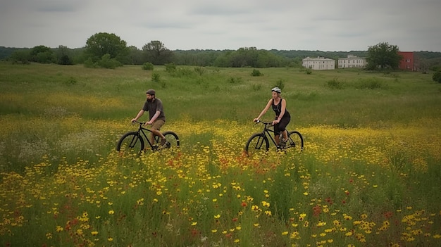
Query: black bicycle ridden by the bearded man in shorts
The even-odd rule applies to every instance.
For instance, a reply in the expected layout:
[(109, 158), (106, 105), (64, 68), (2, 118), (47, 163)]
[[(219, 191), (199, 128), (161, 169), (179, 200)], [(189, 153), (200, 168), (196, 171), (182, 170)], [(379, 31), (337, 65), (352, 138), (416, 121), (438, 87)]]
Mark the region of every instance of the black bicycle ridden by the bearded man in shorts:
[[(154, 137), (154, 144), (151, 143), (150, 138), (147, 137), (150, 129), (142, 127), (145, 122), (134, 121), (132, 124), (139, 124), (137, 131), (127, 132), (119, 139), (118, 144), (116, 144), (116, 151), (125, 154), (139, 154), (144, 151), (145, 141), (147, 140), (148, 146), (150, 146), (151, 151), (159, 151), (164, 148), (179, 148), (179, 137), (175, 132), (166, 131), (163, 132), (163, 136), (166, 137), (166, 144), (160, 146), (161, 139), (158, 136)], [(146, 134), (147, 132), (147, 134)]]

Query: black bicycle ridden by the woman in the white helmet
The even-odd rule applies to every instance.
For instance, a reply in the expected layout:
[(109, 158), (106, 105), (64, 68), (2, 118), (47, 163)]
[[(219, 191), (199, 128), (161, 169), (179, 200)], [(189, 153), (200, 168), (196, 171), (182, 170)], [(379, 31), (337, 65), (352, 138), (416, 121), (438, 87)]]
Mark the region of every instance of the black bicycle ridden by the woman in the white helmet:
[[(285, 151), (289, 148), (299, 148), (300, 151), (303, 151), (303, 137), (302, 134), (298, 131), (292, 131), (288, 132), (288, 139), (286, 141), (285, 146), (278, 146), (275, 143), (275, 139), (273, 138), (273, 135), (271, 133), (274, 133), (273, 129), (270, 129), (271, 126), (273, 126), (273, 122), (263, 122), (261, 120), (257, 120), (256, 124), (262, 123), (263, 124), (263, 130), (260, 133), (256, 133), (251, 135), (249, 137), (247, 144), (245, 145), (245, 152), (248, 156), (254, 156), (256, 153), (261, 153), (261, 151), (268, 151), (270, 147), (270, 142), (268, 141), (271, 139), (274, 146), (277, 148), (277, 150)], [(282, 134), (280, 134), (280, 139), (282, 139)]]

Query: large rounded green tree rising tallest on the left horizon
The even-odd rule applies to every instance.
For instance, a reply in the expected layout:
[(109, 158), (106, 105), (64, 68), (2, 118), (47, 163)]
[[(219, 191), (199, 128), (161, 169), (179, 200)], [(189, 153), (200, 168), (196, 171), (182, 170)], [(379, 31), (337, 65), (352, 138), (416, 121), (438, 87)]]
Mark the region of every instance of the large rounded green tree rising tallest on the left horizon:
[(127, 42), (121, 40), (115, 34), (107, 32), (99, 32), (87, 39), (86, 50), (88, 58), (91, 58), (94, 63), (101, 60), (104, 55), (108, 54), (111, 58), (115, 58), (123, 63), (128, 55)]

